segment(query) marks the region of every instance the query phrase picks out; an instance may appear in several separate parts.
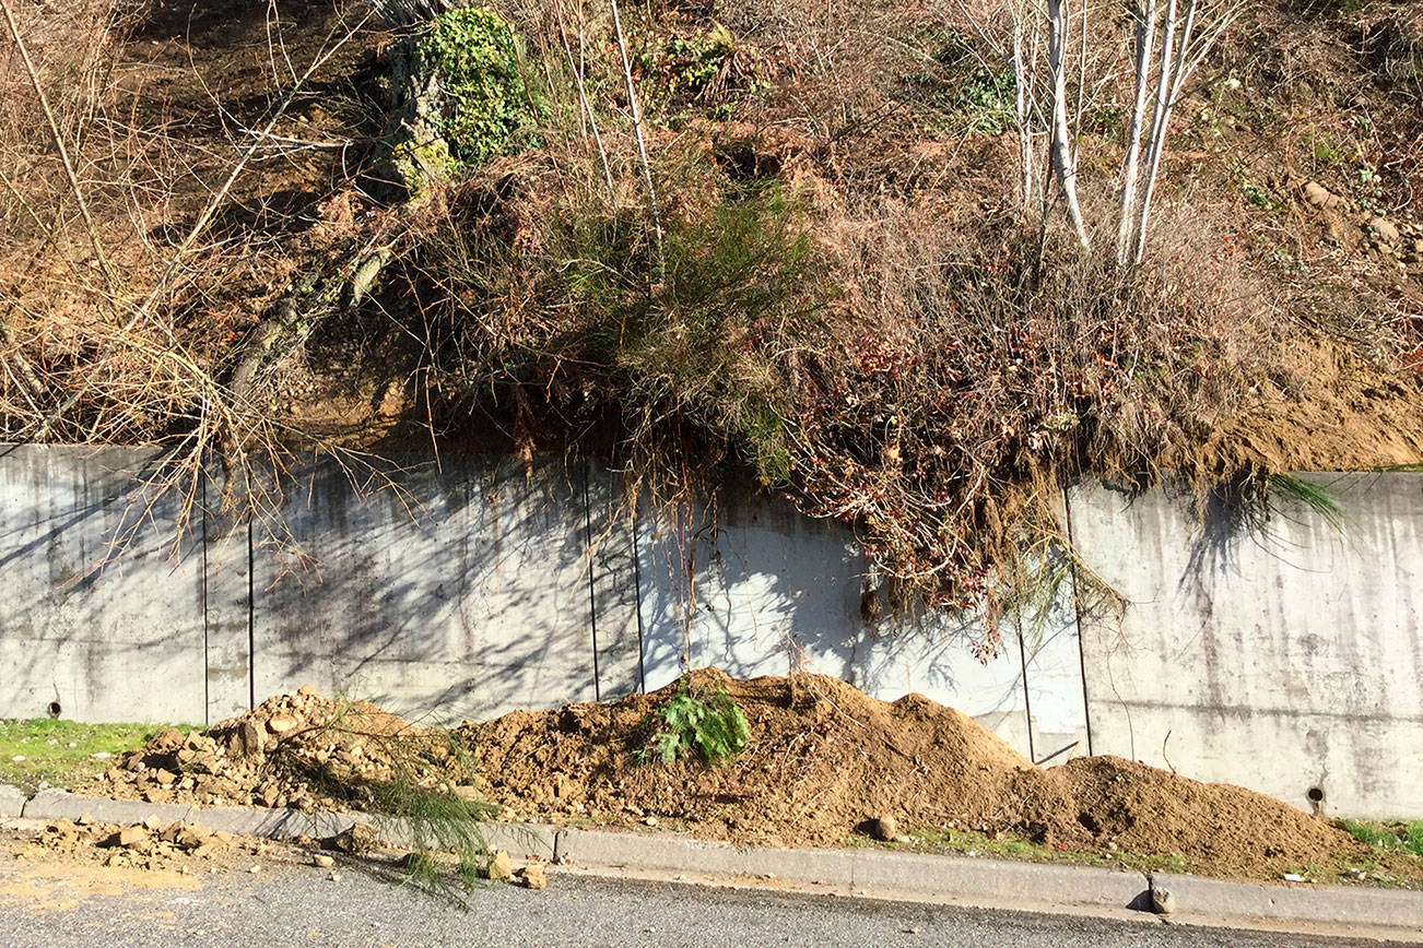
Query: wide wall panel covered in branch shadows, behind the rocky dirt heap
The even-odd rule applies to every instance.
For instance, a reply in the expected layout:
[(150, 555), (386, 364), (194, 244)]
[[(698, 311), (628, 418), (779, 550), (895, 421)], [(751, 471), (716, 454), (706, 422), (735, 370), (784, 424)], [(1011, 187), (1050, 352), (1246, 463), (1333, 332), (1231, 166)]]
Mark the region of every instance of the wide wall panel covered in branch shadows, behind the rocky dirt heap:
[(314, 463), (255, 551), (253, 691), (310, 684), (458, 723), (592, 701), (583, 472), (444, 459), (356, 490)]

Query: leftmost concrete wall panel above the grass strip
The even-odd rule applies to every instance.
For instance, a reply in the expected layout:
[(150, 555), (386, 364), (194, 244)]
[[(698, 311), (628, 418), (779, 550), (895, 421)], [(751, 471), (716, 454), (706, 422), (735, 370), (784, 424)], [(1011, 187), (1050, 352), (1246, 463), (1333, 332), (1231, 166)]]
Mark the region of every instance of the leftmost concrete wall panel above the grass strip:
[(202, 556), (161, 460), (0, 446), (0, 718), (203, 719)]

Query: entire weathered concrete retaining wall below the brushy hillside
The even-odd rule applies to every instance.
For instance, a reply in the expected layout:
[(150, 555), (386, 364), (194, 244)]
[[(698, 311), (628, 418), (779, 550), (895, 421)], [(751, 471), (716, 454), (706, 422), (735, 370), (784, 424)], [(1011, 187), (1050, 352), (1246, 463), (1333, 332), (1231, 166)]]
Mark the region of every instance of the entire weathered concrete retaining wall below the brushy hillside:
[(179, 533), (144, 488), (154, 462), (0, 449), (0, 716), (213, 722), (313, 684), (458, 722), (687, 667), (805, 669), (926, 694), (1036, 760), (1090, 746), (1305, 807), (1318, 789), (1329, 812), (1423, 814), (1419, 475), (1331, 480), (1343, 533), (1299, 515), (1242, 534), (1225, 510), (1079, 488), (1063, 517), (1130, 604), (1084, 611), (1069, 571), (979, 662), (982, 630), (952, 617), (862, 618), (850, 533), (760, 499), (672, 510), (582, 462), (448, 458), (363, 490), (312, 463), (277, 544), (203, 497)]

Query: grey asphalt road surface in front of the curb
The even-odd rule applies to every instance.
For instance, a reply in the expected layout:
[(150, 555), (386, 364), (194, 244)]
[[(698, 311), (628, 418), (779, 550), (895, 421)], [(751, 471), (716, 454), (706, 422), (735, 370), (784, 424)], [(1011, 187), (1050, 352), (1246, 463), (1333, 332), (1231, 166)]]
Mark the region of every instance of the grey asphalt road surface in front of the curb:
[[(0, 945), (973, 945), (1284, 948), (1377, 945), (1299, 935), (980, 911), (558, 874), (467, 908), (344, 868), (265, 863), (189, 885), (0, 863)], [(104, 870), (107, 871), (107, 870)], [(120, 881), (115, 884), (115, 878)], [(137, 880), (137, 877), (134, 877)]]

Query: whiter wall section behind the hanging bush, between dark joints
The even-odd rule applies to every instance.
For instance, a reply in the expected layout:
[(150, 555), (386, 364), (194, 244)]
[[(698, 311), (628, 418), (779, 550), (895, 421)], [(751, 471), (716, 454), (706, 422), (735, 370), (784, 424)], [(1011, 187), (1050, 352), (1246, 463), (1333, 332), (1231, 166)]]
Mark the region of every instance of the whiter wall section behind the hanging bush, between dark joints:
[[(865, 601), (869, 567), (848, 529), (734, 492), (714, 507), (647, 505), (638, 542), (649, 689), (702, 665), (822, 672), (884, 699), (921, 692), (1029, 755), (1017, 618), (1002, 624), (999, 655), (979, 661), (972, 644), (986, 632), (972, 621), (895, 615), (882, 591)], [(1030, 671), (1053, 691), (1033, 708), (1039, 755), (1072, 746), (1086, 723), (1070, 588), (1022, 630)]]

